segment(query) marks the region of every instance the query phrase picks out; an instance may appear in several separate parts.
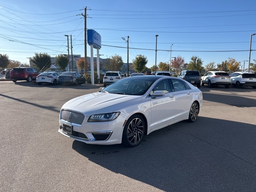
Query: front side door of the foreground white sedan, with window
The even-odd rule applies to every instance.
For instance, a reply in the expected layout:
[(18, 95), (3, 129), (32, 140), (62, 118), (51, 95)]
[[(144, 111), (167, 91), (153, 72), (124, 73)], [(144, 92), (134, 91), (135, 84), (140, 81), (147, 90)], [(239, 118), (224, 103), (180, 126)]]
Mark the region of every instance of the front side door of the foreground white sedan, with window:
[(168, 79), (161, 80), (154, 88), (152, 88), (150, 95), (156, 91), (162, 91), (164, 96), (149, 97), (151, 104), (151, 118), (149, 127), (152, 130), (157, 130), (168, 126), (176, 116), (176, 98), (171, 92), (170, 82)]

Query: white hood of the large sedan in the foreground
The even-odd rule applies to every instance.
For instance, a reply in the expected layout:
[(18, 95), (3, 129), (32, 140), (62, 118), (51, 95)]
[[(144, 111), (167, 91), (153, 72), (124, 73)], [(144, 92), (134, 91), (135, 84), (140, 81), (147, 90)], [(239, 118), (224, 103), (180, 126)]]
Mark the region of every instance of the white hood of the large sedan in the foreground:
[(62, 109), (82, 112), (85, 116), (118, 111), (118, 109), (139, 103), (142, 96), (95, 92), (69, 100)]

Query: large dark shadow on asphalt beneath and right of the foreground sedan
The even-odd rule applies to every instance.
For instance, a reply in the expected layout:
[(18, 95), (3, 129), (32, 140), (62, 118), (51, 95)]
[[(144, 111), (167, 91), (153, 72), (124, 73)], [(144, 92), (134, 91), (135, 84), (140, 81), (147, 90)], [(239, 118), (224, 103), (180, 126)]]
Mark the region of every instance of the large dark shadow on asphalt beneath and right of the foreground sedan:
[(255, 137), (255, 125), (200, 117), (152, 132), (134, 148), (76, 140), (72, 148), (111, 172), (163, 191), (252, 191)]

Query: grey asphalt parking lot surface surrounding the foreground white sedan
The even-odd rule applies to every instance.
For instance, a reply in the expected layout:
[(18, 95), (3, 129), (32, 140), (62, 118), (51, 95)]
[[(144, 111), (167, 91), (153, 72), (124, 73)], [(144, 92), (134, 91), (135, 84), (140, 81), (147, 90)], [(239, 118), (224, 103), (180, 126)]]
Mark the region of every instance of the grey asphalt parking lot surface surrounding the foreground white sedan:
[(256, 191), (256, 90), (200, 87), (194, 123), (135, 148), (88, 145), (58, 133), (61, 106), (102, 85), (0, 81), (0, 191)]

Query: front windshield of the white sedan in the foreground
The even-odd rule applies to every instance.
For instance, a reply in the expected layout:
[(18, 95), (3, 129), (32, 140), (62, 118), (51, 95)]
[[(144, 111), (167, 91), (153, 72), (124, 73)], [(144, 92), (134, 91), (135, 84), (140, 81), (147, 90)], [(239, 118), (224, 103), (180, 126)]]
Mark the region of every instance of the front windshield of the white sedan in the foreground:
[(103, 91), (112, 94), (143, 95), (154, 81), (154, 79), (125, 78), (110, 84)]

